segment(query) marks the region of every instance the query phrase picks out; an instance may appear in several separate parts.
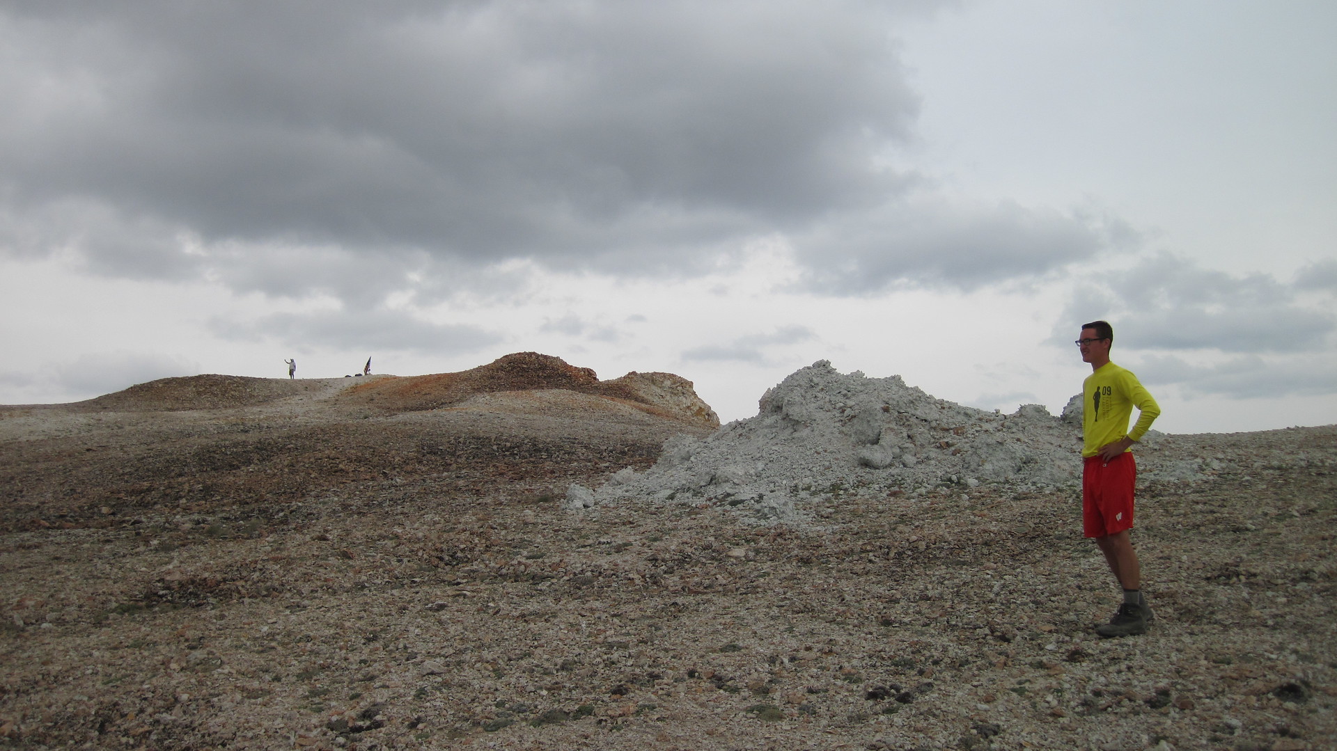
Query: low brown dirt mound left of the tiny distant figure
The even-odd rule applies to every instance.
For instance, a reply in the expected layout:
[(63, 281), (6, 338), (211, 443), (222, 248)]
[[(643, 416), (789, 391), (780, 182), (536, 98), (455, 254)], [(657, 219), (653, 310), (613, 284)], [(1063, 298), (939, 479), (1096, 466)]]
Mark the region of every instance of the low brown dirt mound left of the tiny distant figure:
[(95, 412), (183, 412), (251, 406), (294, 397), (320, 388), (310, 380), (251, 378), (247, 376), (190, 376), (159, 378), (126, 390), (70, 405)]

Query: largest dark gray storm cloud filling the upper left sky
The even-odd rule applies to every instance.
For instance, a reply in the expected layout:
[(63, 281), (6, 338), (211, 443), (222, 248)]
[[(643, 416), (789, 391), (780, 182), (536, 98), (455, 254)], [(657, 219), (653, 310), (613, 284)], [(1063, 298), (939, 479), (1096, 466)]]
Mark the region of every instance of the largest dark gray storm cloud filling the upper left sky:
[(909, 210), (924, 179), (878, 167), (919, 111), (897, 13), (932, 5), (3, 4), (0, 247), (360, 303), (440, 265), (691, 273), (773, 233), (833, 294), (1090, 254), (1046, 210)]

